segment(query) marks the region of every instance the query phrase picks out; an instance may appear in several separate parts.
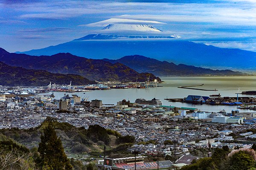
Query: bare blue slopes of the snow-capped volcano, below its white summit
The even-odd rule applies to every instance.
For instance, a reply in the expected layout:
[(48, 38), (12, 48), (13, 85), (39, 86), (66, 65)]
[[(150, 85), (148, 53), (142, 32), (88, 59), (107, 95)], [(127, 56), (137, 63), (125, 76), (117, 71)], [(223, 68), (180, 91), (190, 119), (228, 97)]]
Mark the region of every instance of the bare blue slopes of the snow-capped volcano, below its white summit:
[[(88, 37), (87, 37), (88, 36)], [(119, 59), (140, 54), (160, 61), (198, 67), (256, 70), (256, 52), (195, 43), (176, 38), (124, 38), (121, 35), (87, 35), (47, 48), (25, 51), (29, 55), (53, 55), (60, 52), (93, 59)], [(143, 35), (144, 37), (144, 35)], [(112, 40), (114, 39), (114, 40)]]

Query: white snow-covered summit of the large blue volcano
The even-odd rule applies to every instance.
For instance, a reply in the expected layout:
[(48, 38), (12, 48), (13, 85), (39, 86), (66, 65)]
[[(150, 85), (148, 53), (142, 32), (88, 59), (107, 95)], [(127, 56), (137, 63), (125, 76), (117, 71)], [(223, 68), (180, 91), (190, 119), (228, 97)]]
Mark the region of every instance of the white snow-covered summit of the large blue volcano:
[(121, 30), (129, 30), (129, 31), (157, 31), (161, 32), (160, 29), (157, 29), (153, 26), (147, 24), (108, 24), (103, 28), (104, 30), (109, 31), (121, 31)]

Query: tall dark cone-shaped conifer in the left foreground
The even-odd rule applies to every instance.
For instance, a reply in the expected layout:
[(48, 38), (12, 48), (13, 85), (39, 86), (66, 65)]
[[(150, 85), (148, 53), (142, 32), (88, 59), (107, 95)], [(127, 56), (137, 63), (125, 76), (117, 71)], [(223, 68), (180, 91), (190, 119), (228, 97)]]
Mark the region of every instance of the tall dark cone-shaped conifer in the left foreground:
[(61, 139), (57, 137), (52, 122), (44, 128), (39, 143), (38, 165), (43, 170), (72, 170), (73, 167), (64, 153)]

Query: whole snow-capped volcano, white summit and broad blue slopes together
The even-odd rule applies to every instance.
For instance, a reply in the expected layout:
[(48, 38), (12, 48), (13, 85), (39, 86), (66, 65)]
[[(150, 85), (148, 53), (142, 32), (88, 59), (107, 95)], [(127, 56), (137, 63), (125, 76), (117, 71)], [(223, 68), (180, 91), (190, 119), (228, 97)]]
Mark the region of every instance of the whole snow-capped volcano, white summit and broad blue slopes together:
[[(110, 23), (106, 23), (107, 21)], [(103, 24), (101, 22), (94, 23), (104, 26), (98, 34), (88, 34), (70, 42), (16, 53), (37, 56), (71, 53), (91, 59), (118, 59), (138, 54), (176, 64), (256, 71), (256, 52), (253, 51), (218, 48), (186, 41), (142, 21), (134, 23), (125, 20), (122, 23), (120, 20), (109, 19)]]

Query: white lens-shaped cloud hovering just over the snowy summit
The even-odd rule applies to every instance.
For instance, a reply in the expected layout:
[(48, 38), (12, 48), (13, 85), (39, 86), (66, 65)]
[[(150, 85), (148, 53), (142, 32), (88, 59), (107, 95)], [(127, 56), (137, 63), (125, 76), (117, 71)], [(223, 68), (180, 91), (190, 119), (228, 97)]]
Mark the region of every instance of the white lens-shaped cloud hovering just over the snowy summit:
[(108, 24), (165, 24), (158, 21), (150, 21), (150, 20), (134, 20), (134, 19), (126, 19), (126, 18), (110, 18), (108, 20), (99, 21), (96, 23), (90, 23), (79, 26), (92, 26), (92, 27), (105, 27)]

